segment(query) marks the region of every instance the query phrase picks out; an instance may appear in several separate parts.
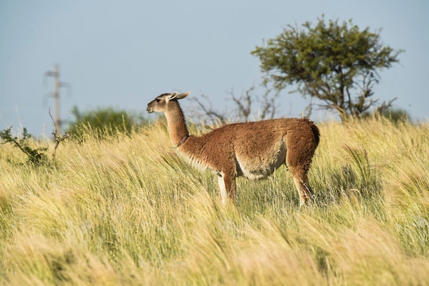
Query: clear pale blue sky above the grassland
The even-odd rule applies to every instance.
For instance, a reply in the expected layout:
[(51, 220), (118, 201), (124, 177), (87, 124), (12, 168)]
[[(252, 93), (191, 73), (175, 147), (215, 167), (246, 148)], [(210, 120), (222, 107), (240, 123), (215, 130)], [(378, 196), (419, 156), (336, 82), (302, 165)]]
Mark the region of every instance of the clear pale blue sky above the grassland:
[[(164, 92), (205, 94), (220, 111), (228, 92), (241, 94), (262, 77), (250, 54), (286, 25), (352, 18), (382, 28), (384, 44), (404, 49), (400, 64), (380, 73), (374, 97), (429, 117), (429, 1), (0, 1), (0, 129), (52, 130), (53, 79), (60, 65), (63, 120), (81, 110), (115, 107), (144, 112)], [(189, 108), (190, 100), (182, 101)], [(282, 93), (279, 116), (299, 116), (306, 101)], [(327, 118), (313, 112), (312, 119)], [(328, 116), (329, 118), (329, 116)]]

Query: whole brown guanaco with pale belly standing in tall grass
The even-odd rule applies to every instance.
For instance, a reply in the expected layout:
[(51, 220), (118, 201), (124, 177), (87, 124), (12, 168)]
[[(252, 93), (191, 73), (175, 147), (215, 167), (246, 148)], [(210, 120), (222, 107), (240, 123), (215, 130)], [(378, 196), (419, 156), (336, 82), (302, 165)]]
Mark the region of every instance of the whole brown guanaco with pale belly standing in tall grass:
[(188, 135), (177, 99), (184, 94), (161, 94), (147, 111), (164, 112), (171, 142), (193, 164), (209, 168), (219, 177), (223, 203), (236, 203), (236, 177), (264, 179), (286, 164), (297, 187), (300, 203), (312, 198), (308, 170), (319, 144), (319, 129), (308, 119), (279, 118), (225, 125), (199, 137)]

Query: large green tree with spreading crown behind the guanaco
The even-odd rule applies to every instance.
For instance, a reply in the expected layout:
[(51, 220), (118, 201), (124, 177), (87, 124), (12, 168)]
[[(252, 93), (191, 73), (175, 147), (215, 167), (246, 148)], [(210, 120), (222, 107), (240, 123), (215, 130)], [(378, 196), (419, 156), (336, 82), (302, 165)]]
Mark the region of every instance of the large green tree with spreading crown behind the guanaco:
[(360, 30), (352, 20), (343, 22), (319, 18), (299, 27), (288, 25), (277, 38), (267, 40), (266, 47), (256, 47), (266, 73), (264, 83), (275, 90), (297, 85), (303, 96), (319, 99), (323, 109), (339, 113), (341, 120), (360, 117), (371, 107), (378, 112), (391, 107), (395, 99), (379, 103), (372, 99), (373, 87), (380, 81), (379, 70), (399, 62), (402, 50), (384, 46), (380, 30)]

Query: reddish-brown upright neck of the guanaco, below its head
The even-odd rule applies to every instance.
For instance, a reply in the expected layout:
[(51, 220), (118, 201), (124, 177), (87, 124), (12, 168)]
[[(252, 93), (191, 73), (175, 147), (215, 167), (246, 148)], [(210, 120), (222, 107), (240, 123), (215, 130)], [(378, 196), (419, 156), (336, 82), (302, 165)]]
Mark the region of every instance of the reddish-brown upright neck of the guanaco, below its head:
[(170, 140), (175, 147), (180, 147), (189, 136), (182, 108), (177, 101), (170, 101), (169, 109), (165, 112), (169, 127)]

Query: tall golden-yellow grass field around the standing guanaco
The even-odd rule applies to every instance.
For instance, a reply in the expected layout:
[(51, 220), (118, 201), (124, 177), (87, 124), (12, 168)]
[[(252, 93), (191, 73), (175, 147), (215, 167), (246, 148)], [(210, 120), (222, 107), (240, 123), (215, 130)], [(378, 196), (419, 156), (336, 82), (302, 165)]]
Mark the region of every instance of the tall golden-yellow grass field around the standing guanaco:
[(221, 205), (162, 122), (42, 166), (2, 144), (0, 285), (429, 285), (429, 124), (319, 129), (302, 208), (284, 167)]

